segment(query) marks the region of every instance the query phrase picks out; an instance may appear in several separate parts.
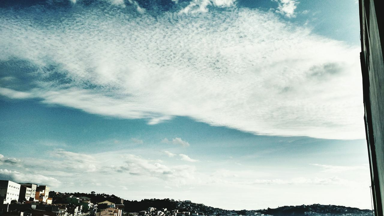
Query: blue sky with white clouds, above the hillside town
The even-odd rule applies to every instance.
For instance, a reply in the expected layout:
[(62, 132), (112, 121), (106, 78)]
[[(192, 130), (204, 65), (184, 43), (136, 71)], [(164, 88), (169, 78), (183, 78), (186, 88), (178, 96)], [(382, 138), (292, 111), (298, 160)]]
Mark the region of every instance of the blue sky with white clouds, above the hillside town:
[(371, 208), (356, 0), (5, 0), (0, 179)]

